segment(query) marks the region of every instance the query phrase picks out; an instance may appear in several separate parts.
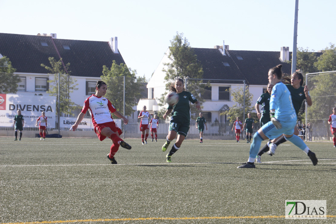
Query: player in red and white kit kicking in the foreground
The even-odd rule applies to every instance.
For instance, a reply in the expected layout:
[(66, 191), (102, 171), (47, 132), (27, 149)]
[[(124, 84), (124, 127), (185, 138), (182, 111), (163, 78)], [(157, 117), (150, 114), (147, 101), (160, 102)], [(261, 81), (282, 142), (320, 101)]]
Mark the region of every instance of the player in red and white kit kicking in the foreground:
[[(124, 142), (119, 135), (122, 133), (120, 128), (113, 121), (111, 113), (113, 113), (118, 118), (124, 120), (124, 124), (128, 123), (128, 119), (120, 114), (112, 105), (110, 100), (103, 97), (106, 94), (107, 85), (103, 81), (98, 81), (96, 83), (96, 93), (84, 101), (83, 109), (77, 117), (76, 123), (71, 127), (70, 130), (75, 131), (79, 123), (83, 120), (85, 113), (89, 110), (92, 124), (94, 127), (94, 132), (97, 134), (100, 141), (109, 137), (113, 144), (110, 149), (110, 153), (107, 158), (111, 161), (111, 164), (117, 164), (114, 155), (119, 149), (119, 145), (126, 149), (131, 149), (132, 147)], [(111, 113), (110, 113), (111, 111)]]

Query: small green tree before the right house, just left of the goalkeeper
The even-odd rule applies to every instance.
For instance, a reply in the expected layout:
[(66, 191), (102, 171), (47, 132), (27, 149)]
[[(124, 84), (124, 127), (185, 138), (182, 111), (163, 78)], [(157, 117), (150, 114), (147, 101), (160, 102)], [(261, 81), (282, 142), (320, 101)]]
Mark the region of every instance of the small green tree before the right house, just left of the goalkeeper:
[[(248, 88), (245, 89), (245, 111), (243, 110), (244, 105), (244, 87), (237, 88), (236, 90), (232, 91), (231, 88), (228, 90), (231, 93), (232, 101), (235, 101), (236, 104), (230, 107), (229, 110), (224, 111), (220, 115), (227, 115), (230, 121), (235, 121), (237, 117), (241, 120), (247, 118), (247, 114), (251, 113), (254, 110), (254, 104), (252, 105), (253, 95), (249, 92)], [(256, 117), (255, 113), (251, 113), (252, 117)], [(245, 121), (242, 121), (245, 122)]]

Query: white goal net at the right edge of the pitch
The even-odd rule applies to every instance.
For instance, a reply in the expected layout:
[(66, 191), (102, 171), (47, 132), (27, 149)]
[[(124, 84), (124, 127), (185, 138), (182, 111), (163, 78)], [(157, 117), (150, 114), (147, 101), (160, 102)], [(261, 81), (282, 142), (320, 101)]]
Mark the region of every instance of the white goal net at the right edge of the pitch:
[(308, 73), (306, 85), (313, 103), (306, 104), (306, 140), (329, 141), (332, 134), (328, 119), (336, 106), (336, 71)]

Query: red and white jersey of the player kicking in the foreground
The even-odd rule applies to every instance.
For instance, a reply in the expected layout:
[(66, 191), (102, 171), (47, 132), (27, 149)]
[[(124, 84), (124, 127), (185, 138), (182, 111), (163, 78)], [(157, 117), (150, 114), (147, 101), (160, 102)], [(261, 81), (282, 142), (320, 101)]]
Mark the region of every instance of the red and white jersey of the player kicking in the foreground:
[(85, 114), (88, 109), (93, 125), (112, 122), (113, 118), (111, 113), (116, 111), (110, 100), (103, 96), (96, 97), (93, 94), (84, 101), (82, 113)]

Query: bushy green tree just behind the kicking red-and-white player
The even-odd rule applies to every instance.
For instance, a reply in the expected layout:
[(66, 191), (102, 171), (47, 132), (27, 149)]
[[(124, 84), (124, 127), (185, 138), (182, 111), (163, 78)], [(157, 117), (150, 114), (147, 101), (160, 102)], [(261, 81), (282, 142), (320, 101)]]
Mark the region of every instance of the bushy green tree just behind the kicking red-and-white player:
[(132, 107), (137, 105), (140, 98), (144, 77), (136, 77), (136, 70), (131, 70), (124, 63), (118, 65), (116, 61), (112, 62), (111, 69), (104, 65), (102, 73), (103, 75), (100, 78), (108, 86), (105, 97), (121, 114), (123, 114), (124, 109), (125, 76), (125, 116), (132, 115), (134, 112)]

